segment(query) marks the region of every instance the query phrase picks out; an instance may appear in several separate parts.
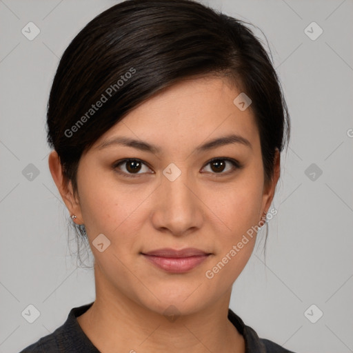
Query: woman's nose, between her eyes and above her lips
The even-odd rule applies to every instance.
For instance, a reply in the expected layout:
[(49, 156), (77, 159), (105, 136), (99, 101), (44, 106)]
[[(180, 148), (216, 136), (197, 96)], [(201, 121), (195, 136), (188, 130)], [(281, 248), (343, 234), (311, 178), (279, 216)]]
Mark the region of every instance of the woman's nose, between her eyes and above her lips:
[(204, 221), (202, 196), (186, 172), (181, 172), (174, 180), (166, 175), (162, 176), (161, 185), (154, 193), (154, 228), (174, 236), (190, 234), (201, 228)]

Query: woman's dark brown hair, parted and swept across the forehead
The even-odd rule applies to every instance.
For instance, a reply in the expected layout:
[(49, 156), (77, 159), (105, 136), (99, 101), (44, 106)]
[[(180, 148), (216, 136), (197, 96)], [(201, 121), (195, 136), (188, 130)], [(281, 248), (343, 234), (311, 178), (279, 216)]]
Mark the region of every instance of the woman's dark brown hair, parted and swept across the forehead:
[[(128, 0), (74, 37), (52, 83), (47, 127), (75, 194), (79, 160), (102, 134), (152, 95), (200, 75), (226, 77), (252, 99), (270, 183), (275, 150), (290, 139), (290, 117), (272, 61), (244, 23), (193, 0)], [(85, 238), (84, 227), (76, 229)]]

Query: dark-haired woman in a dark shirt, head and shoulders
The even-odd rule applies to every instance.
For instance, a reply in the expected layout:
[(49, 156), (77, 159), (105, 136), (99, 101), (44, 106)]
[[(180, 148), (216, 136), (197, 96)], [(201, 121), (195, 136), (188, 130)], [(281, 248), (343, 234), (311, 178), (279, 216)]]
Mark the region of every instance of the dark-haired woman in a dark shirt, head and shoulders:
[(229, 309), (290, 136), (250, 29), (190, 0), (119, 3), (65, 50), (47, 123), (96, 299), (22, 352), (290, 352)]

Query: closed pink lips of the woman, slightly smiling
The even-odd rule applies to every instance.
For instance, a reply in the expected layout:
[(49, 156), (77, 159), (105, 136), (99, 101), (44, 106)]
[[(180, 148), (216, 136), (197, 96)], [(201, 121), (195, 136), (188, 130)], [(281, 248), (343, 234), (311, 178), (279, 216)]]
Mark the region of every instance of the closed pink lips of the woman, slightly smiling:
[(154, 265), (157, 265), (162, 270), (174, 273), (190, 271), (205, 261), (210, 255), (195, 248), (186, 248), (183, 250), (163, 248), (142, 254), (145, 256), (145, 259), (154, 263)]

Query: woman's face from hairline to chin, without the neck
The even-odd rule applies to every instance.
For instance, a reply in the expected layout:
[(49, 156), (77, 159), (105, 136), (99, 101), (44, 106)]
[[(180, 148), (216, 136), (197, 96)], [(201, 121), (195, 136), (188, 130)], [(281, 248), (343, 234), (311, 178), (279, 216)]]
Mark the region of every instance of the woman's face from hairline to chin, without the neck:
[[(249, 230), (270, 208), (279, 177), (264, 188), (254, 117), (233, 103), (240, 93), (220, 78), (177, 83), (135, 108), (81, 157), (79, 201), (65, 202), (85, 224), (95, 275), (110, 294), (153, 312), (174, 305), (185, 314), (230, 295), (254, 248), (256, 232)], [(239, 139), (207, 145), (230, 135)], [(208, 255), (191, 268), (183, 265), (192, 259), (174, 265), (162, 259), (161, 268), (143, 255), (161, 248)]]

